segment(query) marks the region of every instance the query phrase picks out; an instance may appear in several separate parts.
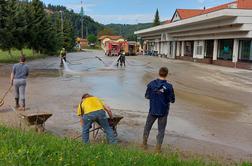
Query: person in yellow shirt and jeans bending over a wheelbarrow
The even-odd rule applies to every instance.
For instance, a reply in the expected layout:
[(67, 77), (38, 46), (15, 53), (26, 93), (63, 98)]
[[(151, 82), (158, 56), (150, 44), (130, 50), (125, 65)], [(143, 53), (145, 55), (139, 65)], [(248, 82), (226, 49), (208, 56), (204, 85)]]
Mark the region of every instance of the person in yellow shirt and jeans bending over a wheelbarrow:
[(98, 122), (101, 125), (110, 144), (117, 143), (114, 132), (109, 126), (106, 112), (108, 113), (109, 117), (112, 118), (111, 109), (104, 104), (101, 99), (88, 93), (82, 96), (81, 103), (77, 109), (77, 115), (80, 116), (82, 125), (82, 139), (84, 143), (90, 143), (89, 129), (93, 122)]

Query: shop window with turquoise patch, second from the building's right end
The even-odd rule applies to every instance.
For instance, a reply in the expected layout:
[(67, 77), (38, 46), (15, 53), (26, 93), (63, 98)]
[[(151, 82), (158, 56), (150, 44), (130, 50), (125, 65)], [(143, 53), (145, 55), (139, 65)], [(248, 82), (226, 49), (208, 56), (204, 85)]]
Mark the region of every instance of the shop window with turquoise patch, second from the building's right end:
[(218, 59), (232, 60), (233, 58), (234, 40), (219, 40), (219, 54)]

